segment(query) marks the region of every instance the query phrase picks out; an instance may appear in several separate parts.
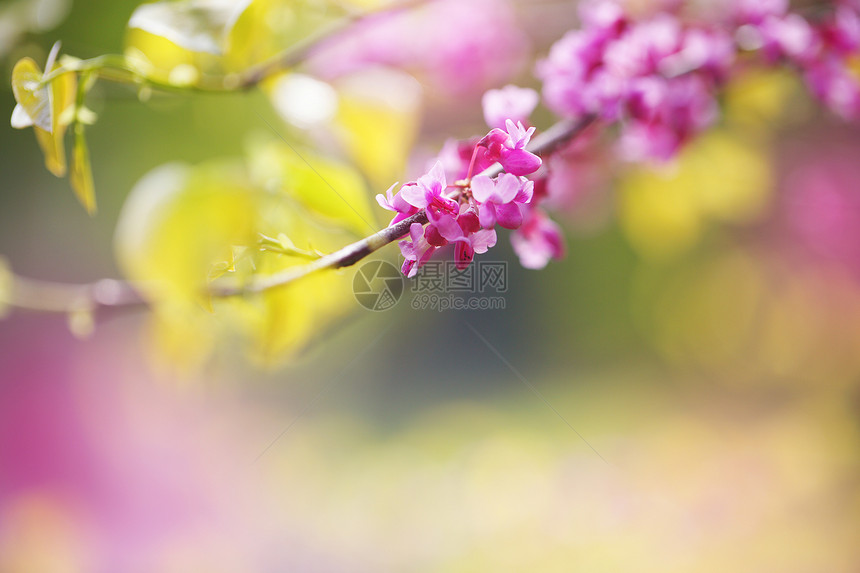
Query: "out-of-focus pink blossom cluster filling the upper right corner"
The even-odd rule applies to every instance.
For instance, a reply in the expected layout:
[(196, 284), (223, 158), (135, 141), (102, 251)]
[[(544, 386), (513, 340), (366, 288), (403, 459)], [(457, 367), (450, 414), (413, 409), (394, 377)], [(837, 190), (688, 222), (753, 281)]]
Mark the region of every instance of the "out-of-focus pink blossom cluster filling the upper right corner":
[(860, 46), (855, 3), (833, 3), (815, 22), (788, 0), (732, 0), (722, 17), (686, 22), (684, 3), (634, 21), (616, 0), (581, 5), (571, 31), (538, 66), (546, 104), (563, 116), (594, 114), (622, 126), (622, 154), (666, 160), (718, 118), (717, 89), (744, 54), (798, 67), (813, 93), (843, 116), (860, 116), (850, 58)]

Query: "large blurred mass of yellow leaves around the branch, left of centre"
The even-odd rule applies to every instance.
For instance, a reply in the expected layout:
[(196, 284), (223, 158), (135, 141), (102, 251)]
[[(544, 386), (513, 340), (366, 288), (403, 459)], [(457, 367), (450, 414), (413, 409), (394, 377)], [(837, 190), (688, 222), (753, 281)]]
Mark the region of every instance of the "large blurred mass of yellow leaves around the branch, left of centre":
[[(343, 246), (346, 230), (368, 232), (363, 180), (345, 165), (309, 161), (313, 168), (273, 143), (253, 154), (250, 174), (230, 163), (171, 164), (132, 190), (117, 258), (154, 308), (152, 348), (162, 361), (194, 368), (220, 334), (238, 332), (254, 360), (274, 364), (354, 306), (349, 277), (337, 271), (257, 294), (206, 294), (212, 280), (241, 287)], [(261, 236), (286, 237), (296, 253), (262, 250)]]

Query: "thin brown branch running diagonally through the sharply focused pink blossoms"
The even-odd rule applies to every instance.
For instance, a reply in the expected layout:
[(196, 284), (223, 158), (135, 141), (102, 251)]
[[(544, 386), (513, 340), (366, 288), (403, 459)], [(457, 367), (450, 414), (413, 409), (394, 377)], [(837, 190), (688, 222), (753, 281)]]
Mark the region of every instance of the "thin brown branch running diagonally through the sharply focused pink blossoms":
[[(578, 120), (562, 120), (535, 137), (528, 146), (529, 151), (547, 156), (579, 136), (596, 120), (593, 115)], [(481, 174), (495, 177), (503, 172), (498, 163)], [(347, 245), (334, 253), (324, 255), (308, 264), (291, 267), (280, 273), (257, 277), (246, 284), (217, 281), (209, 285), (208, 294), (213, 297), (231, 297), (258, 294), (280, 288), (303, 277), (324, 269), (338, 269), (354, 265), (385, 245), (404, 237), (413, 223), (427, 223), (423, 210), (396, 225), (386, 227), (369, 237)], [(0, 273), (2, 274), (2, 273)], [(2, 281), (0, 281), (2, 282)], [(71, 313), (96, 311), (100, 308), (135, 307), (147, 304), (146, 299), (132, 283), (103, 279), (90, 284), (73, 285), (26, 279), (8, 273), (7, 288), (0, 288), (0, 304), (43, 312)]]

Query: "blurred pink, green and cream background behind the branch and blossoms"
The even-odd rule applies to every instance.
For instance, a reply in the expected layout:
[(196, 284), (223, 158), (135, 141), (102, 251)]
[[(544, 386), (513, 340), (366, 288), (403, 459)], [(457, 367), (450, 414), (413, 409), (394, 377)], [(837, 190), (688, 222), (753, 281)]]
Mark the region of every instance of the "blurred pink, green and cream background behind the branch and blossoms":
[[(0, 109), (20, 57), (56, 39), (120, 53), (137, 5), (0, 4)], [(352, 60), (321, 54), (311, 83), (145, 102), (98, 84), (94, 218), (7, 125), (0, 254), (28, 277), (122, 276), (117, 221), (153, 168), (242, 157), (267, 123), (327, 149), (314, 106), (293, 106), (308, 85), (370, 98), (412, 150), (374, 172), (346, 145), (381, 192), (485, 131), (484, 90), (536, 85), (534, 59), (576, 25), (573, 2), (434, 10)], [(346, 270), (345, 317), (287, 360), (228, 339), (194, 368), (165, 363), (145, 312), (79, 340), (63, 316), (11, 311), (0, 572), (857, 571), (858, 155), (855, 126), (753, 70), (676, 165), (559, 159), (568, 256), (526, 271), (503, 237), (504, 310), (368, 312)]]

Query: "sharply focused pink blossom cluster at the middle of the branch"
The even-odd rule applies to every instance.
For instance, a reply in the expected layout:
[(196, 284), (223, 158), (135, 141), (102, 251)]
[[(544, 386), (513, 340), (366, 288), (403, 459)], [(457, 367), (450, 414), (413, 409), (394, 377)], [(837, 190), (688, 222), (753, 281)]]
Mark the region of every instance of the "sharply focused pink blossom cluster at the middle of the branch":
[[(496, 226), (518, 230), (514, 244), (518, 252), (525, 253), (528, 266), (543, 266), (552, 254), (560, 255), (561, 235), (548, 218), (532, 208), (535, 183), (525, 177), (541, 166), (540, 158), (526, 150), (534, 131), (508, 119), (505, 129), (493, 128), (473, 143), (469, 157), (458, 152), (457, 165), (448, 171), (453, 183), (449, 184), (446, 166), (438, 160), (427, 174), (402, 185), (397, 192), (395, 184), (385, 195), (377, 195), (381, 207), (395, 212), (392, 225), (422, 209), (427, 214), (426, 226), (412, 223), (409, 238), (400, 241), (403, 274), (415, 276), (433, 253), (446, 245), (454, 246), (457, 267), (465, 269), (476, 253), (495, 246)], [(505, 173), (472, 176), (497, 162)], [(549, 225), (554, 231), (551, 239), (546, 238)], [(544, 257), (542, 251), (547, 250), (551, 253)]]

